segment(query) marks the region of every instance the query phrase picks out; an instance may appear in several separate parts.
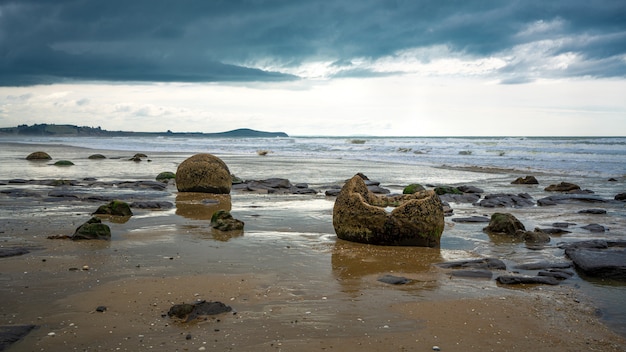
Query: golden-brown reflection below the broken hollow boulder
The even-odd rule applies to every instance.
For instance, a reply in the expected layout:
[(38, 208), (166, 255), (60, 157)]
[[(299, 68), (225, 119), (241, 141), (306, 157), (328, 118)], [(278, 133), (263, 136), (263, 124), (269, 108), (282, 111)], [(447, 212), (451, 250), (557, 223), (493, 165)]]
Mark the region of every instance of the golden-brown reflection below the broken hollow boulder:
[(403, 289), (434, 290), (439, 284), (433, 264), (442, 261), (439, 248), (374, 246), (339, 239), (331, 258), (333, 275), (342, 291), (350, 294), (381, 284), (377, 279), (387, 274), (410, 279), (412, 283)]

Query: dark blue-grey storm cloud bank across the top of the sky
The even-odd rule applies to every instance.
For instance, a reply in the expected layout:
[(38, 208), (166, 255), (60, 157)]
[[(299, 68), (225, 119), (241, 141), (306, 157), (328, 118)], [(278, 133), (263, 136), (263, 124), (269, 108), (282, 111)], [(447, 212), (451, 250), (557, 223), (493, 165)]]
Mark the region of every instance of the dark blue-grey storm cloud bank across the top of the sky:
[[(550, 55), (581, 58), (559, 75), (623, 77), (625, 16), (622, 0), (0, 0), (0, 85), (289, 80), (253, 67), (433, 45), (488, 57), (538, 40), (561, 43)], [(528, 31), (538, 23), (559, 26)], [(531, 65), (508, 68), (508, 80)], [(339, 73), (350, 74), (368, 72)]]

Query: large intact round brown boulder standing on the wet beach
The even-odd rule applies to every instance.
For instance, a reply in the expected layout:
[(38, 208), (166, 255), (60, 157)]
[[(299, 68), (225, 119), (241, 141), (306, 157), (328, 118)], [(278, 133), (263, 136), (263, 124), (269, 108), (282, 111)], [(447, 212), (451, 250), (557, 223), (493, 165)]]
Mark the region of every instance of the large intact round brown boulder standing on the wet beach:
[(183, 161), (176, 170), (179, 192), (228, 194), (231, 186), (228, 166), (211, 154), (196, 154)]

